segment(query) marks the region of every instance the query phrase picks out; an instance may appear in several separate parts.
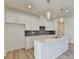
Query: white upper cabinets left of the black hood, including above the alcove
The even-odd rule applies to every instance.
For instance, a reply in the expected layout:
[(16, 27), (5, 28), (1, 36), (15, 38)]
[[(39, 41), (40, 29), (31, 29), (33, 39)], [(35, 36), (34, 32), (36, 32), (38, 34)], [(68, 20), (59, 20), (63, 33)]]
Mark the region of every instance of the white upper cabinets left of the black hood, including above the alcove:
[(5, 20), (8, 23), (25, 24), (26, 30), (39, 30), (39, 18), (30, 14), (7, 10)]

